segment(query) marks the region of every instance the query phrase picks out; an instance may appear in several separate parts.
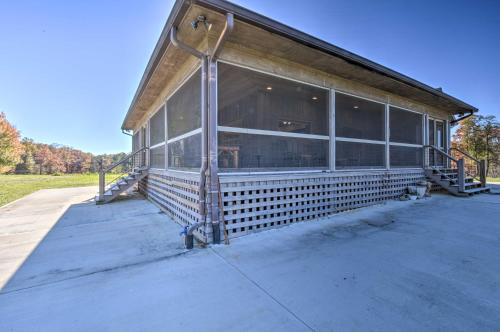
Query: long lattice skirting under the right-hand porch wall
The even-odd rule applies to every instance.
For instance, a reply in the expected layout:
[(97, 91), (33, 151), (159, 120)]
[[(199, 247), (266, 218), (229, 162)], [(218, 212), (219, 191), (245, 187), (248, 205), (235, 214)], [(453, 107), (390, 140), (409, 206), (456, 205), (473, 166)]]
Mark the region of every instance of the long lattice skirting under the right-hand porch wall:
[(229, 237), (312, 220), (401, 196), (423, 170), (221, 176)]

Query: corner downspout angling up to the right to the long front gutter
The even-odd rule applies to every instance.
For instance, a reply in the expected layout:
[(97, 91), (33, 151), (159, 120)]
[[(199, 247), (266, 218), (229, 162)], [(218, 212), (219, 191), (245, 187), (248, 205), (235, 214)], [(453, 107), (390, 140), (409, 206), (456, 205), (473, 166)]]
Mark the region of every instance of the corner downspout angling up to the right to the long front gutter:
[(226, 23), (215, 43), (212, 54), (209, 58), (209, 188), (210, 188), (210, 220), (212, 222), (213, 243), (220, 243), (220, 208), (219, 208), (219, 179), (217, 165), (217, 59), (222, 50), (222, 46), (234, 27), (234, 17), (232, 13), (226, 14)]

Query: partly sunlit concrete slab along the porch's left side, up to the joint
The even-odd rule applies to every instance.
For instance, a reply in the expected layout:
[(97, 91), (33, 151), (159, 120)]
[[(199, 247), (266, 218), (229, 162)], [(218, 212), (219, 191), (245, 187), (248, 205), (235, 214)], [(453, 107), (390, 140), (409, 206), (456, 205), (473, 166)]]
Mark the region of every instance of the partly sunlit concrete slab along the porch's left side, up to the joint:
[(0, 210), (2, 292), (185, 252), (180, 226), (144, 199), (96, 205), (96, 188), (41, 190)]

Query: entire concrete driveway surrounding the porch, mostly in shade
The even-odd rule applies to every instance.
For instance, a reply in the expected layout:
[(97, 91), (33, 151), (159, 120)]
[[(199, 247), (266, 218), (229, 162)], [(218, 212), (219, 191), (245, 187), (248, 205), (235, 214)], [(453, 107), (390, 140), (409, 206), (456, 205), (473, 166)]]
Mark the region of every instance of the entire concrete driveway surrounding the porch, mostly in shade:
[(500, 329), (500, 195), (390, 202), (186, 252), (151, 203), (95, 206), (94, 192), (0, 209), (1, 331)]

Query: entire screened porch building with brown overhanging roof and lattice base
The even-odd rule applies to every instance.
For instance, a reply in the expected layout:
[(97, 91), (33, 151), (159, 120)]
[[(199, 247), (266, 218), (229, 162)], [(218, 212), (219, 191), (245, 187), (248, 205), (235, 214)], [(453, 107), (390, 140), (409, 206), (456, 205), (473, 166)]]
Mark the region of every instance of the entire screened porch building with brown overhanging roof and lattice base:
[(229, 2), (178, 0), (122, 130), (140, 190), (209, 243), (397, 198), (458, 162), (450, 124), (476, 111)]

